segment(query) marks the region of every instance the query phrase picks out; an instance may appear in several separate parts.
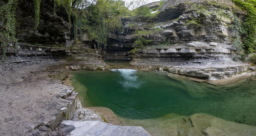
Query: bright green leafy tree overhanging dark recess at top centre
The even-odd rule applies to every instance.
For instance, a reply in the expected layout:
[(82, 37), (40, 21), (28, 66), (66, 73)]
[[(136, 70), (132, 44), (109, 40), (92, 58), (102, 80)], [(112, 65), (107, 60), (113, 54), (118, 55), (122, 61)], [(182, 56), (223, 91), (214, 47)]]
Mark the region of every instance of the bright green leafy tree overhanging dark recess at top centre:
[(123, 31), (121, 17), (127, 12), (122, 0), (98, 0), (95, 5), (88, 6), (84, 27), (90, 38), (106, 47), (110, 33)]

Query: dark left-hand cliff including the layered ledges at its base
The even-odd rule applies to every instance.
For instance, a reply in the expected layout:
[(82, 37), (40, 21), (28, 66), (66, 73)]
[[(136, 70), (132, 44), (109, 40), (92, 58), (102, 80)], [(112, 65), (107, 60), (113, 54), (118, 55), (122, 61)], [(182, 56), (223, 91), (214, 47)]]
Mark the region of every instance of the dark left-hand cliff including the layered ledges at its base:
[[(6, 55), (10, 61), (61, 59), (74, 61), (75, 64), (102, 62), (99, 50), (92, 49), (93, 43), (88, 41), (88, 38), (83, 37), (87, 44), (76, 44), (72, 40), (73, 27), (69, 25), (68, 14), (63, 7), (54, 10), (53, 0), (41, 0), (40, 22), (37, 29), (35, 29), (34, 10), (34, 3), (29, 0), (18, 3), (16, 10), (18, 42), (6, 46)], [(1, 27), (4, 27), (4, 23)]]

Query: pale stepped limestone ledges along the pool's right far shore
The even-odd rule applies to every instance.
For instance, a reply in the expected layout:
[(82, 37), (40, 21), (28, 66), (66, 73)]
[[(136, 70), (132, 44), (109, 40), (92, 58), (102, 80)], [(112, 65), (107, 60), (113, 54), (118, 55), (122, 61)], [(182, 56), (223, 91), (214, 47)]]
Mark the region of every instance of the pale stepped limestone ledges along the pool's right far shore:
[(227, 44), (218, 44), (215, 47), (205, 42), (191, 42), (135, 51), (130, 61), (135, 69), (164, 70), (172, 74), (207, 80), (229, 78), (247, 70), (255, 70), (254, 67), (249, 67), (249, 64), (234, 62), (232, 53), (235, 51)]

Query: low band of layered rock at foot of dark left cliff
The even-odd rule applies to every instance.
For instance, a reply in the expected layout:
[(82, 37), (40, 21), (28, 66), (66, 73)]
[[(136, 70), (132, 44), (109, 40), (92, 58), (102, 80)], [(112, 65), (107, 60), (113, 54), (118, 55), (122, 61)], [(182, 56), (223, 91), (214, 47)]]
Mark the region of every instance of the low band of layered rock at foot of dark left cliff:
[[(64, 45), (32, 45), (18, 43), (20, 46), (19, 57), (23, 60), (62, 59), (79, 60), (77, 63), (101, 64), (102, 56), (99, 50), (92, 49), (88, 44), (73, 44), (72, 47)], [(71, 68), (72, 69), (72, 68)]]

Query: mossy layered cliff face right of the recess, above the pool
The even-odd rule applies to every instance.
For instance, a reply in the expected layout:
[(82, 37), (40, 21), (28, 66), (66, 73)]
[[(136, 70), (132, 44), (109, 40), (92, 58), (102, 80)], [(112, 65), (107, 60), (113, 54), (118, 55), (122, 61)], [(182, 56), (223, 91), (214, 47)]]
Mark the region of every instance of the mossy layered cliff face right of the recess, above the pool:
[[(159, 14), (150, 21), (141, 19), (136, 22), (124, 18), (124, 32), (118, 36), (111, 36), (109, 40), (111, 43), (108, 44), (107, 49), (116, 52), (124, 47), (128, 49), (127, 47), (131, 47), (138, 36), (142, 36), (152, 39), (151, 45), (154, 46), (148, 46), (148, 49), (137, 53), (133, 51), (133, 61), (152, 57), (158, 61), (161, 59), (160, 61), (169, 60), (169, 62), (230, 59), (236, 52), (231, 46), (230, 39), (236, 39), (238, 31), (233, 27), (235, 25), (233, 7), (235, 6), (229, 0), (218, 3), (212, 0), (207, 2), (168, 0), (159, 9)], [(165, 59), (166, 57), (168, 59)]]

